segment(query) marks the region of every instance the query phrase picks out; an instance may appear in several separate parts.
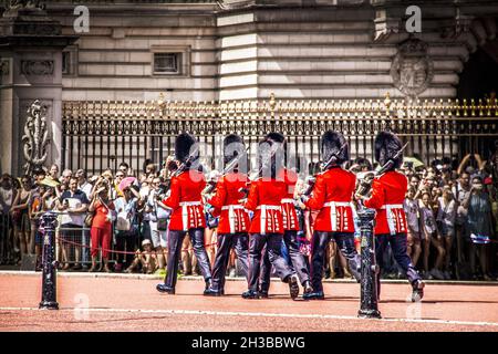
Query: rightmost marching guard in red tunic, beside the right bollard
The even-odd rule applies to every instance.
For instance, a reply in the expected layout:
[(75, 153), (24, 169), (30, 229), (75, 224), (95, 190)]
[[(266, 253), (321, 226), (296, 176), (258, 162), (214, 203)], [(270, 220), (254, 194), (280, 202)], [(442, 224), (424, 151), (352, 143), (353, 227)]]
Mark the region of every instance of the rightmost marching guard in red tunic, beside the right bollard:
[[(415, 302), (424, 295), (424, 282), (406, 251), (407, 226), (403, 201), (408, 183), (405, 175), (396, 171), (403, 163), (403, 154), (398, 154), (401, 150), (402, 143), (394, 134), (381, 132), (375, 137), (375, 159), (381, 166), (388, 167), (385, 173), (375, 177), (372, 184), (372, 197), (363, 200), (363, 205), (376, 210), (374, 233), (375, 257), (378, 266), (382, 269), (383, 254), (387, 244), (391, 244), (394, 259), (412, 284), (412, 301)], [(377, 277), (377, 289), (380, 294), (380, 277)]]

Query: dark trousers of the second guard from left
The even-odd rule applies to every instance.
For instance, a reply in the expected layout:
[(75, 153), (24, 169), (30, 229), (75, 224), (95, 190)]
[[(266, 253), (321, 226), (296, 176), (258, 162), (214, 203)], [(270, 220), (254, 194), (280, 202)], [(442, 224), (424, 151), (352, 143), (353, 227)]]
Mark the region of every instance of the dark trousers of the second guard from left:
[(225, 288), (225, 272), (230, 260), (230, 250), (235, 249), (237, 258), (242, 266), (242, 273), (248, 278), (249, 237), (247, 233), (218, 235), (218, 250), (216, 251), (215, 266), (212, 268), (212, 285), (215, 291)]

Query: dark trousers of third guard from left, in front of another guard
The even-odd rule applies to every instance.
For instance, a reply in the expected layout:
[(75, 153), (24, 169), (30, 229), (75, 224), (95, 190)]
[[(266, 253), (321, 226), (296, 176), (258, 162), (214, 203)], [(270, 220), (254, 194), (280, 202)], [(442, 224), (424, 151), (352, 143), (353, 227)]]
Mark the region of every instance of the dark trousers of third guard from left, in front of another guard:
[(249, 239), (249, 290), (255, 292), (258, 291), (261, 269), (261, 251), (264, 246), (267, 246), (268, 249), (268, 258), (282, 281), (287, 281), (290, 275), (294, 274), (292, 268), (282, 257), (282, 233), (251, 235)]

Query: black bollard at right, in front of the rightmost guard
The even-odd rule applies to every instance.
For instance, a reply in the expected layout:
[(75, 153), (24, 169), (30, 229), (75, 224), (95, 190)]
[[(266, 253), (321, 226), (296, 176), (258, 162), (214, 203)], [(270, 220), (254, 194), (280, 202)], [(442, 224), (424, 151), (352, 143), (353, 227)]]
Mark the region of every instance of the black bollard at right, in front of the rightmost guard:
[(357, 211), (362, 233), (362, 280), (361, 280), (361, 308), (357, 312), (362, 319), (381, 319), (377, 309), (377, 282), (378, 267), (375, 261), (374, 218), (375, 210), (362, 208)]

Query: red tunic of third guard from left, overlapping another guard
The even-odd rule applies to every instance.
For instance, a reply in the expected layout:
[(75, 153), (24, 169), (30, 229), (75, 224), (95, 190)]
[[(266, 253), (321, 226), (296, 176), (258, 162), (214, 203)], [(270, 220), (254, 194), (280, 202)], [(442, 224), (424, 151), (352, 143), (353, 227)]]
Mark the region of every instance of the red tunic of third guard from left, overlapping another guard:
[(287, 185), (278, 179), (258, 178), (251, 183), (246, 209), (255, 211), (250, 233), (283, 233), (282, 198), (287, 196)]

